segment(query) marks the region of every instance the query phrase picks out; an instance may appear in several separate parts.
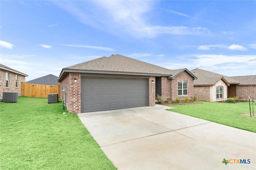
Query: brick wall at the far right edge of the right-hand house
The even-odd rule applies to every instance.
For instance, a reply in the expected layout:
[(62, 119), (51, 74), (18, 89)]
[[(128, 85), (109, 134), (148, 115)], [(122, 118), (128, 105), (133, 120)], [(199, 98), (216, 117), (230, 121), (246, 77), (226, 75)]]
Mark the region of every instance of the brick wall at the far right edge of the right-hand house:
[(256, 86), (236, 86), (236, 96), (239, 99), (256, 100)]

